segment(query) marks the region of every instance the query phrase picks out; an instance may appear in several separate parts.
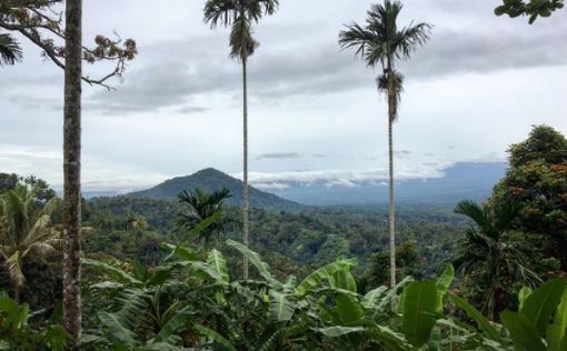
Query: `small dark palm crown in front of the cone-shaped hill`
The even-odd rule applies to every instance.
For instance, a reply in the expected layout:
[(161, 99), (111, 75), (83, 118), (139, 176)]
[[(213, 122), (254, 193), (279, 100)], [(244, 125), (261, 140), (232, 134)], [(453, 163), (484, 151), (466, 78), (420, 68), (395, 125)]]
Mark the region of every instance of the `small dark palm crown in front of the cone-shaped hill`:
[(189, 232), (203, 220), (212, 217), (215, 213), (219, 213), (219, 219), (199, 233), (198, 240), (202, 241), (207, 247), (210, 241), (223, 233), (227, 224), (235, 222), (235, 220), (225, 215), (223, 203), (230, 197), (232, 195), (226, 188), (215, 192), (208, 192), (202, 189), (196, 189), (192, 192), (181, 192), (178, 199), (179, 203), (185, 205), (185, 209), (177, 214), (173, 221), (176, 231), (181, 233)]

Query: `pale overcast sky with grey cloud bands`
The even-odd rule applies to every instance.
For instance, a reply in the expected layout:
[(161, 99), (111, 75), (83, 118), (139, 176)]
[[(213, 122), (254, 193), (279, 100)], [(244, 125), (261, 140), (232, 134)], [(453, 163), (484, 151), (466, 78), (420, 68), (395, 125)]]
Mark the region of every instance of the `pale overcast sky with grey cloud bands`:
[[(435, 26), (398, 68), (396, 177), (441, 177), (456, 162), (505, 161), (509, 144), (546, 123), (567, 134), (567, 10), (495, 17), (498, 0), (406, 0), (399, 26)], [(159, 6), (157, 6), (159, 3)], [(83, 87), (86, 191), (145, 189), (213, 167), (242, 170), (241, 67), (205, 1), (84, 1), (84, 42), (133, 38), (139, 56), (116, 91)], [(386, 102), (378, 70), (338, 33), (374, 1), (280, 0), (255, 26), (249, 62), (250, 179), (261, 188), (387, 177)], [(62, 184), (62, 71), (20, 39), (24, 62), (0, 68), (0, 172)], [(96, 77), (108, 66), (86, 66)]]

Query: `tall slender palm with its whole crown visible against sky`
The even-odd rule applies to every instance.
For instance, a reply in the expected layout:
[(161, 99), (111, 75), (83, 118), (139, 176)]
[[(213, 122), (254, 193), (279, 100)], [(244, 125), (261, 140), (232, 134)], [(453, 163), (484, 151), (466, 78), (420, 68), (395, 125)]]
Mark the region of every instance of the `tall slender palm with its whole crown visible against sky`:
[(396, 284), (396, 208), (394, 202), (394, 149), (392, 123), (398, 118), (398, 107), (402, 92), (402, 76), (396, 70), (399, 60), (408, 60), (411, 52), (429, 39), (431, 26), (410, 23), (398, 29), (397, 19), (401, 2), (385, 0), (384, 4), (372, 4), (367, 12), (366, 26), (346, 26), (339, 33), (341, 49), (355, 48), (368, 67), (381, 67), (382, 73), (376, 82), (378, 91), (388, 102), (388, 157), (389, 157), (389, 227), (390, 227), (390, 284)]

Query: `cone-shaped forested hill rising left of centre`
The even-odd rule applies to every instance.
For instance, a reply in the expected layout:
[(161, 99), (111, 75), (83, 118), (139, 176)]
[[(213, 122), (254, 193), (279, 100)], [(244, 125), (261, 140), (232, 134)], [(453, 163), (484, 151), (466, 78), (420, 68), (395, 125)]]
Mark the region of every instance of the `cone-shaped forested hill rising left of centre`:
[[(203, 169), (186, 177), (177, 177), (162, 182), (151, 189), (137, 191), (127, 194), (133, 198), (150, 198), (158, 200), (173, 200), (183, 190), (192, 190), (196, 188), (216, 191), (222, 188), (230, 190), (232, 198), (226, 201), (229, 205), (240, 207), (243, 198), (242, 181), (222, 173), (213, 168)], [(279, 198), (272, 193), (268, 193), (250, 187), (250, 207), (267, 210), (286, 210), (297, 211), (305, 208), (297, 202)]]

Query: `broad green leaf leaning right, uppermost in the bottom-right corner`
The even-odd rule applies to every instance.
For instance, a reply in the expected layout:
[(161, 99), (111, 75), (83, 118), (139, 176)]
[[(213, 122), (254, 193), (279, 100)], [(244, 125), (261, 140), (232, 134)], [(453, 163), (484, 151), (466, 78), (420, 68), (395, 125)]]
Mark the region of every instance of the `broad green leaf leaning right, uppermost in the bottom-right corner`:
[(561, 301), (565, 281), (555, 279), (534, 291), (524, 302), (520, 311), (543, 335), (551, 320), (551, 314)]

